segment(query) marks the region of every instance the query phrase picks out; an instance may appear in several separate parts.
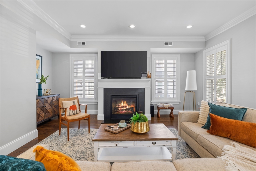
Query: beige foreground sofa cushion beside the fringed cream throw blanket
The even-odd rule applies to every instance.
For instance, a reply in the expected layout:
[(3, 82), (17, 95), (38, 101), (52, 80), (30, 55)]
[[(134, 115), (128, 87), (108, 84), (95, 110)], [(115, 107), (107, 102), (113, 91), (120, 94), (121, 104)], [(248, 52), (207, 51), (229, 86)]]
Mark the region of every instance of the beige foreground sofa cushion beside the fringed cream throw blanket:
[(225, 164), (220, 158), (189, 158), (174, 161), (174, 165), (178, 171), (224, 171)]

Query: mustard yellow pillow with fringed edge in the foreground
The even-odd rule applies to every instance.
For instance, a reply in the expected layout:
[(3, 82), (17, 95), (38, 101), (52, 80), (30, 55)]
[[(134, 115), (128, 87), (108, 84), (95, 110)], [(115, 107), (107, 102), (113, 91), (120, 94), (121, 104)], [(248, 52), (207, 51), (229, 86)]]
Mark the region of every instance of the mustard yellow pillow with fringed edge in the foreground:
[(42, 162), (46, 171), (81, 171), (75, 160), (61, 152), (48, 150), (40, 145), (33, 152), (36, 152), (36, 161)]

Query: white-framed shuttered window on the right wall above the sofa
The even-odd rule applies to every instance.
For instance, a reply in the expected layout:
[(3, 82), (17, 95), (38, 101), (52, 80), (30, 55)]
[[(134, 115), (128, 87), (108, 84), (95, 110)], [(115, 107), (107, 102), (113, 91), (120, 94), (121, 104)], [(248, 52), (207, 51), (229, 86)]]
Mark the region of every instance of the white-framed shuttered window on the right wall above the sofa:
[(203, 51), (204, 100), (230, 103), (230, 40)]

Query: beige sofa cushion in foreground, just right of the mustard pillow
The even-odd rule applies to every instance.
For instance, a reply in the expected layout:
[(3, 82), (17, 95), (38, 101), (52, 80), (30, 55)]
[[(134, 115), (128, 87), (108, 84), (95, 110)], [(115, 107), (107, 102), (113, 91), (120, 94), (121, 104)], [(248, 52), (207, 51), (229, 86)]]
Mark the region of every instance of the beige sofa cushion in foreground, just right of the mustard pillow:
[(110, 171), (109, 162), (76, 161), (82, 171)]

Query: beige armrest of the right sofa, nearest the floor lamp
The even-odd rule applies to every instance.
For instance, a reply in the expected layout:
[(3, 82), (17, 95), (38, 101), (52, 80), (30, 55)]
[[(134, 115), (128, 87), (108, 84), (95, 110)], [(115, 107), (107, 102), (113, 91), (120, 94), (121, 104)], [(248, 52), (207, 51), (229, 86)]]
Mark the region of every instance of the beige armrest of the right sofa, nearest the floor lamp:
[(178, 113), (178, 134), (180, 136), (180, 125), (182, 122), (197, 123), (199, 111), (183, 111)]

